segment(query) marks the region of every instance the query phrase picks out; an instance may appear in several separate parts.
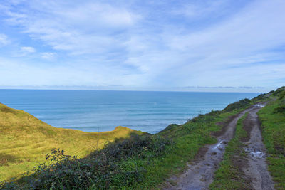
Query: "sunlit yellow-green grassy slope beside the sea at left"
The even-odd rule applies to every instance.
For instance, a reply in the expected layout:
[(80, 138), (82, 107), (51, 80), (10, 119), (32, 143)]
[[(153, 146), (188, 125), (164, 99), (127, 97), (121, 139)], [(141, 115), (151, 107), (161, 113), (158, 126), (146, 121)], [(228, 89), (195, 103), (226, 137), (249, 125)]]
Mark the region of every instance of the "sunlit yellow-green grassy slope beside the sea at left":
[(131, 132), (134, 130), (126, 127), (100, 133), (51, 127), (24, 111), (0, 104), (0, 181), (32, 169), (53, 148), (84, 157)]

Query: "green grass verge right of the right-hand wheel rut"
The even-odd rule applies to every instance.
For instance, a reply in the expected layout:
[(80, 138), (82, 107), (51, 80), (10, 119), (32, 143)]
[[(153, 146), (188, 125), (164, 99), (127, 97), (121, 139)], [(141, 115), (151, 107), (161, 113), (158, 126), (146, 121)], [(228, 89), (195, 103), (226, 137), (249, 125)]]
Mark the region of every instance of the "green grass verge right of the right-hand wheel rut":
[[(277, 90), (276, 90), (277, 91)], [(276, 182), (276, 189), (285, 189), (285, 112), (274, 112), (284, 105), (284, 92), (279, 90), (274, 96), (274, 101), (269, 102), (259, 112), (261, 121), (261, 133), (264, 144), (268, 150), (269, 171)], [(283, 97), (282, 97), (283, 96)]]

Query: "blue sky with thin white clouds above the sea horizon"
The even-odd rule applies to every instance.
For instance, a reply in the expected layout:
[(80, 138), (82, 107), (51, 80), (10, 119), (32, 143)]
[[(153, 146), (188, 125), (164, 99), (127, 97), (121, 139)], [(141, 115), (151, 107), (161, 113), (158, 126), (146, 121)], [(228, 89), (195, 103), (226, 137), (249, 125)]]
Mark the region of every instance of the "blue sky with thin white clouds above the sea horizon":
[(0, 88), (266, 92), (284, 0), (1, 0)]

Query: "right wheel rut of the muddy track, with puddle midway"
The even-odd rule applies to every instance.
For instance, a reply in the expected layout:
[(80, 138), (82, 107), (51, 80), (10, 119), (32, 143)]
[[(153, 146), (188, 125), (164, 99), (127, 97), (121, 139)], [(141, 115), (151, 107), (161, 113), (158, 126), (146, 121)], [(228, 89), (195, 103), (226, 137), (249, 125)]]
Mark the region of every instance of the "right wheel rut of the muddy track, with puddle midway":
[(257, 111), (249, 112), (244, 120), (244, 128), (250, 133), (249, 140), (245, 143), (247, 147), (247, 167), (242, 168), (247, 179), (251, 181), (253, 189), (274, 189), (274, 182), (271, 179), (266, 164), (266, 149), (262, 142), (260, 124)]

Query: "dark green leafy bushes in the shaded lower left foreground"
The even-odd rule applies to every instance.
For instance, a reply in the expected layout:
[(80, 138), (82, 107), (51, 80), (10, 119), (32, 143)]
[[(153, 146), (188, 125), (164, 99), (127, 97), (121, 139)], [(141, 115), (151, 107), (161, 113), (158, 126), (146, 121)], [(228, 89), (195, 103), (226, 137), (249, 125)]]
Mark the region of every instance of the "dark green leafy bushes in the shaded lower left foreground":
[[(160, 157), (170, 143), (159, 136), (133, 134), (84, 159), (54, 149), (45, 163), (18, 181), (0, 183), (0, 189), (120, 189), (142, 180), (145, 169), (135, 162)], [(29, 173), (32, 174), (28, 176)]]

